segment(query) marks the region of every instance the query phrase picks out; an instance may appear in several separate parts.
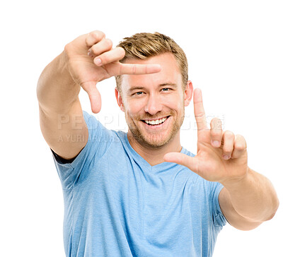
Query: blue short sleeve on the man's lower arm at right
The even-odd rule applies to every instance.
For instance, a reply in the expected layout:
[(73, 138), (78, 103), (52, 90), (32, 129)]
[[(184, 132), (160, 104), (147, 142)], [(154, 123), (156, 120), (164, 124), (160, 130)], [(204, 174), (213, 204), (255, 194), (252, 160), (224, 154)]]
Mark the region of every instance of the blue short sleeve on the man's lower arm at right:
[(210, 182), (210, 201), (212, 210), (212, 220), (215, 227), (223, 227), (226, 225), (226, 218), (221, 211), (219, 205), (219, 193), (224, 188), (219, 182)]

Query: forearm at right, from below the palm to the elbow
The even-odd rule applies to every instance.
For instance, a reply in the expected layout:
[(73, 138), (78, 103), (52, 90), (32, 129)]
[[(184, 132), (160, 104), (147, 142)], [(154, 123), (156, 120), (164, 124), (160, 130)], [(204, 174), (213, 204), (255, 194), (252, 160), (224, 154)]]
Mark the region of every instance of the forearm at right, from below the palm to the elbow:
[(279, 205), (271, 182), (261, 174), (248, 168), (247, 176), (241, 181), (224, 184), (229, 191), (236, 212), (255, 222), (270, 220)]

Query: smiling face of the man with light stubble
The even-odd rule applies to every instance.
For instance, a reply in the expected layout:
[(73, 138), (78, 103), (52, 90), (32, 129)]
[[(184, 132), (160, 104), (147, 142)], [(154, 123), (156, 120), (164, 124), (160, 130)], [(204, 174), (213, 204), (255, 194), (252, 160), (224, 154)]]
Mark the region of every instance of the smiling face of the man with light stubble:
[(131, 59), (125, 63), (161, 65), (158, 73), (122, 76), (122, 96), (116, 92), (116, 97), (125, 112), (129, 142), (147, 148), (162, 148), (179, 141), (185, 106), (192, 97), (192, 83), (187, 83), (184, 92), (173, 54), (161, 54), (146, 60)]

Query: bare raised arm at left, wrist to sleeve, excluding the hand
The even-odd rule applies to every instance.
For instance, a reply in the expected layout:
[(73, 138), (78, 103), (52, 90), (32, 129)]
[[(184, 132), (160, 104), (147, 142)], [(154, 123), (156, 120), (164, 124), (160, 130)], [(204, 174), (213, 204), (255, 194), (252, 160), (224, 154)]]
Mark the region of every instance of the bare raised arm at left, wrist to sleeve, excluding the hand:
[[(78, 155), (88, 139), (79, 91), (69, 75), (64, 52), (45, 68), (37, 84), (42, 135), (50, 148), (67, 160)], [(68, 140), (74, 137), (81, 140)]]

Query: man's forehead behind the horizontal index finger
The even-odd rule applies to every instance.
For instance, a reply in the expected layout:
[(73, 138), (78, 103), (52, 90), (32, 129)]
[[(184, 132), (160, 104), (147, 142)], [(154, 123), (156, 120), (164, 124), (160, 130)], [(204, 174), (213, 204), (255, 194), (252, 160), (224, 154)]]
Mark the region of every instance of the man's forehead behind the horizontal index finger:
[(148, 59), (127, 59), (125, 64), (160, 64), (161, 71), (143, 75), (123, 75), (121, 80), (122, 91), (131, 87), (152, 88), (163, 83), (182, 84), (182, 76), (175, 56), (171, 53), (160, 54)]

